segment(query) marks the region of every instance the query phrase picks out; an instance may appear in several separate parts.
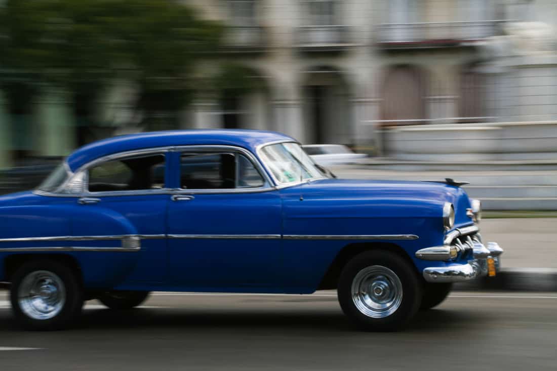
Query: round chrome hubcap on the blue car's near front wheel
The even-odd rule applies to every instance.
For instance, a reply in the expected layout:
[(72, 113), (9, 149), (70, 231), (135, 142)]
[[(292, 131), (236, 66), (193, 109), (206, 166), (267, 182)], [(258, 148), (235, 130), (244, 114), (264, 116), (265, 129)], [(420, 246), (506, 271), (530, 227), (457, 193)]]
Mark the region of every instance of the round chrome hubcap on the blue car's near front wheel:
[(352, 300), (361, 314), (372, 318), (388, 317), (402, 302), (402, 283), (387, 267), (366, 267), (352, 281)]

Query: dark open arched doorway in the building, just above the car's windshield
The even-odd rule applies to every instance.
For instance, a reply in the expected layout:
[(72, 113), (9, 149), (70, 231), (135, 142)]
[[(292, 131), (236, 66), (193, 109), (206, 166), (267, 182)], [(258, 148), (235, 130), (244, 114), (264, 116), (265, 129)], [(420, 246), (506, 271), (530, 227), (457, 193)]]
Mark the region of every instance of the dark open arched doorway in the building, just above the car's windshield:
[(352, 144), (350, 90), (344, 76), (333, 68), (317, 67), (303, 77), (306, 143)]

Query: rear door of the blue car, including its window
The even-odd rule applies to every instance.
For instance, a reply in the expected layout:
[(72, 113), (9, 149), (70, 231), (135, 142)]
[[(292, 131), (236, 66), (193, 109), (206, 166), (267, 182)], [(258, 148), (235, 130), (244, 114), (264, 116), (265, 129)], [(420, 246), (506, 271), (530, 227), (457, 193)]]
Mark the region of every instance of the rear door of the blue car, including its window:
[(130, 289), (167, 279), (167, 160), (165, 152), (143, 151), (96, 161), (85, 172), (85, 193), (76, 207), (91, 212), (78, 213), (84, 217), (72, 221), (72, 232), (75, 236), (122, 235), (118, 226), (125, 226), (126, 235), (139, 236), (139, 252), (129, 255), (136, 263), (122, 282)]

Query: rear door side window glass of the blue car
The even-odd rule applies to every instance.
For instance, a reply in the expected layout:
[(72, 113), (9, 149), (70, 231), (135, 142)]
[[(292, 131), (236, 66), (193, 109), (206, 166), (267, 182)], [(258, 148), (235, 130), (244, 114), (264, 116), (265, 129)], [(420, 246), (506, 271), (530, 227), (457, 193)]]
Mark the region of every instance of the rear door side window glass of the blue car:
[(164, 188), (165, 157), (144, 155), (110, 160), (88, 170), (89, 192), (146, 191)]

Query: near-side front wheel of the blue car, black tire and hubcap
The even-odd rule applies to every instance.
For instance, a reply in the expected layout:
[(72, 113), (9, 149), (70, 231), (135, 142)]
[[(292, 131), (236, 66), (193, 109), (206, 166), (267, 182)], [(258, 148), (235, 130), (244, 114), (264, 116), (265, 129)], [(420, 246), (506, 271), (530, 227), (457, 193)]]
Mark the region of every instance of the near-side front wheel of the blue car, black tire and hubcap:
[(344, 313), (361, 329), (395, 331), (417, 312), (422, 286), (411, 263), (388, 251), (368, 251), (340, 274), (338, 297)]

